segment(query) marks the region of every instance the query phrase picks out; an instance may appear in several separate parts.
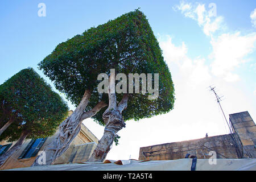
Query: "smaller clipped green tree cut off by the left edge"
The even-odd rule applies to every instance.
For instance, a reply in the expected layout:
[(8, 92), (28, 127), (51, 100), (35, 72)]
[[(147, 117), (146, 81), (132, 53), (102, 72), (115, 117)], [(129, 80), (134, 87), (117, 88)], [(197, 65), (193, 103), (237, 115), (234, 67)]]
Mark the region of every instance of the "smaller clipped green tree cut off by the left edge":
[(53, 135), (67, 117), (67, 104), (32, 68), (23, 69), (5, 81), (0, 86), (0, 98), (2, 122), (8, 123), (9, 118), (13, 119), (0, 140), (13, 142), (18, 139), (8, 152), (0, 156), (0, 166), (20, 148), (26, 138)]

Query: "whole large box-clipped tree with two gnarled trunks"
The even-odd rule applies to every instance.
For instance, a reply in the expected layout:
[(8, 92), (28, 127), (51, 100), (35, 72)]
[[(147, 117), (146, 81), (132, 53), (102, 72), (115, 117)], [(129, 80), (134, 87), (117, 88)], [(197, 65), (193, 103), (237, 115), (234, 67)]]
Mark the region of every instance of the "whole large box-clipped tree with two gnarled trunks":
[[(49, 145), (51, 151), (47, 147), (44, 150), (48, 156), (52, 156), (47, 164), (54, 163), (54, 160), (63, 154), (80, 130), (83, 119), (92, 117), (94, 121), (105, 126), (104, 136), (89, 159), (90, 162), (102, 161), (108, 154), (117, 132), (125, 127), (125, 121), (138, 121), (141, 118), (167, 113), (174, 105), (171, 73), (146, 16), (139, 10), (119, 16), (96, 28), (90, 28), (83, 34), (60, 43), (39, 63), (39, 69), (43, 69), (56, 88), (64, 92), (77, 106), (74, 113), (61, 123), (60, 132), (63, 134)], [(111, 69), (114, 69), (112, 74)], [(100, 73), (106, 73), (109, 80), (112, 80), (109, 89), (104, 87), (106, 93), (98, 92), (101, 80), (97, 78)], [(156, 91), (159, 92), (159, 97), (149, 100), (150, 92), (142, 91), (108, 92), (115, 85), (115, 73), (123, 73), (126, 76), (129, 73), (158, 73), (159, 89)], [(149, 79), (152, 83), (154, 77)], [(139, 82), (143, 84), (145, 81)], [(148, 84), (150, 82), (147, 82)], [(125, 89), (126, 86), (120, 88)], [(102, 109), (106, 105), (108, 108)], [(93, 110), (94, 113), (89, 114)], [(72, 138), (64, 135), (67, 126), (70, 127), (68, 132)], [(54, 147), (54, 154), (49, 154)]]

